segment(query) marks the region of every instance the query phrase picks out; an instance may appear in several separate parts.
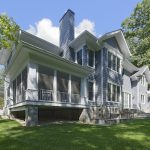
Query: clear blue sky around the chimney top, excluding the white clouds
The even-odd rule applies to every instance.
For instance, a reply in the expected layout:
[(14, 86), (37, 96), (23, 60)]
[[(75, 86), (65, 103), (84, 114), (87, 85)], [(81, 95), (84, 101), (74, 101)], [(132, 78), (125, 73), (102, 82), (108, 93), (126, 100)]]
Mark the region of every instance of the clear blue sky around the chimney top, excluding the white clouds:
[(68, 9), (76, 13), (76, 25), (84, 18), (95, 23), (97, 35), (120, 28), (141, 0), (1, 0), (0, 12), (9, 16), (27, 30), (42, 18), (49, 18), (54, 26)]

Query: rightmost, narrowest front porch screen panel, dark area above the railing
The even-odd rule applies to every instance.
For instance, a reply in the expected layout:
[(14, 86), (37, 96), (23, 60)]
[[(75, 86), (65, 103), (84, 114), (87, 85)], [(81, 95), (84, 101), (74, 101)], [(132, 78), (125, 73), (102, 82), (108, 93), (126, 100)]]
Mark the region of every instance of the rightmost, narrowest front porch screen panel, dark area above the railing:
[(81, 79), (75, 76), (71, 76), (71, 93), (80, 94)]

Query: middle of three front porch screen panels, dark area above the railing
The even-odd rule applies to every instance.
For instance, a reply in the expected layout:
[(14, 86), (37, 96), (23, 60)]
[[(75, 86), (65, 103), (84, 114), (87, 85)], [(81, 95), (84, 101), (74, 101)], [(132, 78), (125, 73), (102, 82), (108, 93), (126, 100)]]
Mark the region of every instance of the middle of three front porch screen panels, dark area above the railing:
[(63, 72), (57, 72), (57, 90), (68, 93), (69, 75)]

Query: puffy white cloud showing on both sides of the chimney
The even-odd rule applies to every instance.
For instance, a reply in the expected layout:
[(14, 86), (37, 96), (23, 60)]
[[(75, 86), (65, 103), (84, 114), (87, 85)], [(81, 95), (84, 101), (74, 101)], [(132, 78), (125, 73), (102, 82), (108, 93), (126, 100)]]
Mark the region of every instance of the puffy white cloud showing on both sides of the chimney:
[[(94, 22), (83, 19), (78, 26), (75, 27), (75, 37), (81, 34), (83, 31), (88, 30), (95, 35)], [(29, 25), (27, 32), (38, 36), (44, 40), (47, 40), (53, 44), (59, 45), (59, 27), (54, 26), (52, 21), (47, 18), (41, 19), (35, 25)]]

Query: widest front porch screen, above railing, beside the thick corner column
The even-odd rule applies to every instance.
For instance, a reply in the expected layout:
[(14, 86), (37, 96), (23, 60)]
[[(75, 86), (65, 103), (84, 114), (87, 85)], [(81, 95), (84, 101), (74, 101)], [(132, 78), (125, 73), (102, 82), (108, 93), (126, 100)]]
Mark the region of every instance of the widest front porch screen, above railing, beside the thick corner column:
[(53, 90), (54, 71), (50, 68), (39, 66), (39, 89)]

